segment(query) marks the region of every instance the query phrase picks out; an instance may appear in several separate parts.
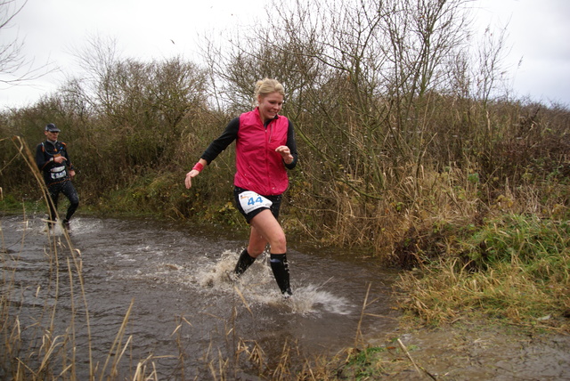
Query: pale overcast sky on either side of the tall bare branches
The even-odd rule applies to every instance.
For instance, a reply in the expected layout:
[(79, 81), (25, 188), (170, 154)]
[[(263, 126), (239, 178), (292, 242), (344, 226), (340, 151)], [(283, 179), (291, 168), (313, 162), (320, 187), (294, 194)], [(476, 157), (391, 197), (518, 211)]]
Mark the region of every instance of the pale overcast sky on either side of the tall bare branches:
[[(21, 0), (20, 0), (21, 1)], [(0, 109), (33, 104), (72, 74), (73, 52), (89, 36), (115, 38), (123, 57), (142, 61), (183, 56), (193, 60), (198, 36), (253, 17), (263, 0), (28, 0), (13, 27), (0, 29), (0, 45), (18, 36), (35, 67), (46, 62), (61, 72), (33, 85), (0, 86)], [(505, 65), (518, 98), (570, 106), (570, 0), (476, 0), (482, 29), (507, 27)]]

